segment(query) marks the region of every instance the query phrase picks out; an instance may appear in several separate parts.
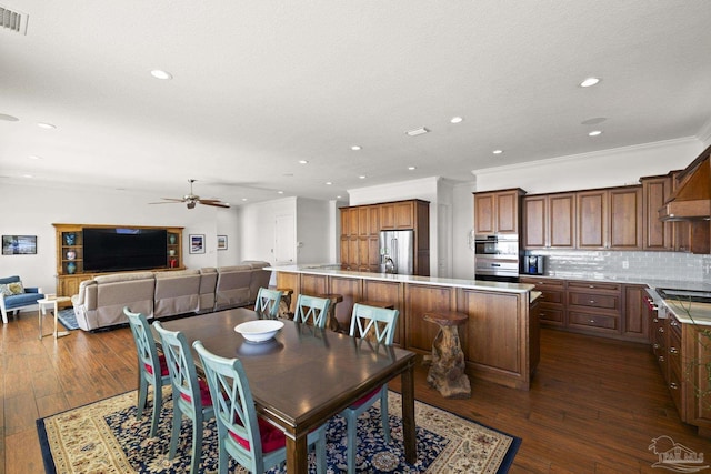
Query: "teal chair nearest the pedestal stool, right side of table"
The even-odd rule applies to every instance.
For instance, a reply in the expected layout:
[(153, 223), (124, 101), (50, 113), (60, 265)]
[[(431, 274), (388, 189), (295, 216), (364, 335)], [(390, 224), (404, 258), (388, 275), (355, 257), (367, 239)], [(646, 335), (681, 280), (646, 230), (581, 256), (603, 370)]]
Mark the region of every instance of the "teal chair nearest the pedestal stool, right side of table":
[[(398, 310), (353, 304), (351, 316), (351, 337), (369, 337), (377, 344), (392, 345), (398, 324)], [(390, 421), (388, 417), (388, 384), (372, 390), (341, 412), (347, 423), (348, 473), (356, 473), (356, 453), (358, 450), (358, 417), (380, 400), (380, 416), (385, 443), (390, 443)]]

